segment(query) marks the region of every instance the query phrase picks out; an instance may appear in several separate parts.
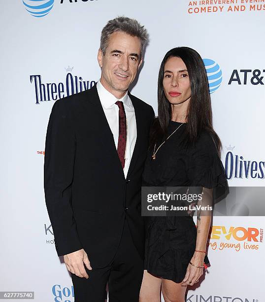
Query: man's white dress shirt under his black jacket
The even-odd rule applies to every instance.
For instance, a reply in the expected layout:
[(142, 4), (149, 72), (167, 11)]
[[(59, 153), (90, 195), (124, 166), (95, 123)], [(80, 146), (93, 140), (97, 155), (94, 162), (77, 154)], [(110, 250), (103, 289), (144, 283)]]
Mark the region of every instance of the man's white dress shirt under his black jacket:
[(118, 148), (119, 139), (119, 107), (115, 103), (117, 101), (121, 101), (124, 104), (127, 122), (127, 141), (125, 151), (125, 165), (123, 171), (126, 178), (137, 137), (136, 119), (133, 103), (128, 95), (128, 92), (126, 92), (125, 96), (121, 99), (116, 99), (116, 97), (109, 91), (107, 91), (106, 88), (100, 83), (100, 80), (97, 83), (97, 89), (100, 103), (107, 118), (110, 130), (113, 134), (116, 149)]

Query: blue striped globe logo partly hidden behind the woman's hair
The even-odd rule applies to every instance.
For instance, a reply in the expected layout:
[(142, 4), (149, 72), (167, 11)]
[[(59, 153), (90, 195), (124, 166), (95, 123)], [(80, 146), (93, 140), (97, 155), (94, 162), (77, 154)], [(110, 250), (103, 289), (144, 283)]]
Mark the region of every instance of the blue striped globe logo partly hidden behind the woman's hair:
[(221, 85), (223, 79), (222, 70), (220, 66), (211, 59), (203, 59), (203, 63), (207, 73), (209, 92), (213, 93)]

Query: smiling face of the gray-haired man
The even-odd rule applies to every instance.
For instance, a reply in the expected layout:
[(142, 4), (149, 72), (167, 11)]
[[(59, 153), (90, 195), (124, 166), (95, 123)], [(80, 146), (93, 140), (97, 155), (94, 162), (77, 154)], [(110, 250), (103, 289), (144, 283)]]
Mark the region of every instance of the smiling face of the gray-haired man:
[(118, 98), (126, 93), (137, 74), (142, 63), (140, 51), (140, 39), (124, 32), (110, 35), (105, 55), (99, 49), (100, 82)]

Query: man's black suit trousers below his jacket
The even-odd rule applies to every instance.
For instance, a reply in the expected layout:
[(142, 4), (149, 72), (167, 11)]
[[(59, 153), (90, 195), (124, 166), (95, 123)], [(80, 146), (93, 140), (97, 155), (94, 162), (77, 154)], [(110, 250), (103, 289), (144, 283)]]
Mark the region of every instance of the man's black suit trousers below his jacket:
[(85, 269), (88, 279), (71, 273), (74, 302), (105, 302), (107, 284), (109, 302), (139, 301), (143, 260), (133, 244), (126, 220), (119, 248), (111, 263), (103, 268), (93, 268), (92, 265), (92, 270), (86, 266)]

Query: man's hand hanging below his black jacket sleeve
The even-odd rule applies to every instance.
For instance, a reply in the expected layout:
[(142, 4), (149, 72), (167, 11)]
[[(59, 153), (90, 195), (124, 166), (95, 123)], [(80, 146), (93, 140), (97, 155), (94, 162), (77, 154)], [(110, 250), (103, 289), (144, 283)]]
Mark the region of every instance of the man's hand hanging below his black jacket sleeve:
[(86, 272), (84, 264), (89, 270), (91, 270), (92, 267), (90, 265), (87, 253), (84, 251), (84, 249), (64, 255), (64, 262), (67, 269), (71, 273), (75, 274), (78, 277), (85, 277), (86, 279), (88, 279), (88, 274)]

